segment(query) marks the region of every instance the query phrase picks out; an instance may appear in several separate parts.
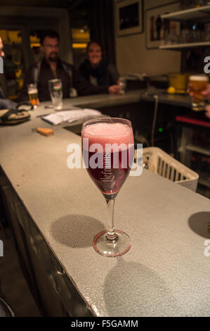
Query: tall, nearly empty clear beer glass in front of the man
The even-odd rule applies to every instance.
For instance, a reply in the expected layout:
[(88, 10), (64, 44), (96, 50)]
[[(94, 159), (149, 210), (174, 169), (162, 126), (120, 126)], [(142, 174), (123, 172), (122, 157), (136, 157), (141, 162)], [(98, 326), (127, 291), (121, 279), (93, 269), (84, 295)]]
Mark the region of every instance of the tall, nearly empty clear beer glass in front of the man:
[(51, 100), (55, 111), (59, 111), (63, 108), (63, 87), (62, 81), (55, 79), (48, 81), (49, 90), (51, 94)]

